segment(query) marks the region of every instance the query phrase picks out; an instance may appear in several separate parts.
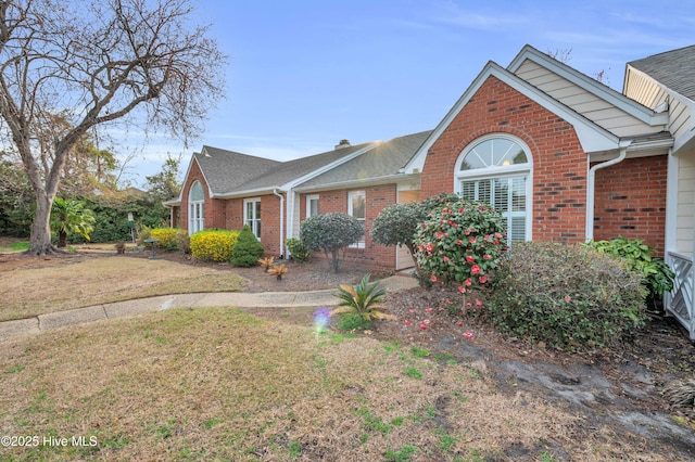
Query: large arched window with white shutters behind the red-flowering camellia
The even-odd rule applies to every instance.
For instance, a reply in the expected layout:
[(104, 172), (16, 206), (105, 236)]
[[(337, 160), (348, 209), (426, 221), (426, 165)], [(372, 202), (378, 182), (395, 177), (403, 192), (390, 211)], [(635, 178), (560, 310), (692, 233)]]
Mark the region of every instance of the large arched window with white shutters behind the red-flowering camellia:
[(508, 134), (479, 138), (456, 162), (454, 191), (492, 205), (507, 221), (507, 242), (531, 239), (531, 152)]

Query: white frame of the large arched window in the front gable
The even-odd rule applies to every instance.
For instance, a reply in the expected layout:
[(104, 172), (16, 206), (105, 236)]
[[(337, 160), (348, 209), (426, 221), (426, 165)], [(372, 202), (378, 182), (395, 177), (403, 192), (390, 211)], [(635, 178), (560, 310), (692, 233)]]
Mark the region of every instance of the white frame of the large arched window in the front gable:
[[(527, 155), (527, 163), (518, 165), (490, 166), (470, 170), (460, 169), (464, 159), (476, 146), (485, 141), (495, 139), (504, 139), (518, 144)], [(522, 213), (526, 216), (525, 241), (531, 241), (533, 235), (533, 155), (529, 146), (517, 137), (513, 137), (508, 133), (490, 133), (485, 134), (484, 137), (477, 138), (476, 140), (470, 142), (462, 151), (460, 155), (456, 159), (456, 164), (454, 165), (454, 192), (460, 195), (463, 193), (463, 183), (465, 181), (508, 179), (514, 177), (526, 177), (526, 209)], [(475, 197), (469, 198), (475, 200)], [(513, 232), (509, 232), (509, 227), (511, 224), (511, 219), (515, 217), (519, 217), (520, 213), (509, 210), (507, 213), (503, 213), (502, 215), (507, 220), (507, 245), (510, 245)]]

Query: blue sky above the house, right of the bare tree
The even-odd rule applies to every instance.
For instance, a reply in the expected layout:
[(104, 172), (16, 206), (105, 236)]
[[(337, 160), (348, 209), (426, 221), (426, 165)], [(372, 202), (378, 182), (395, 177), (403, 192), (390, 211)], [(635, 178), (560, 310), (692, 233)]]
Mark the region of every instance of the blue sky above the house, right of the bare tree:
[(203, 144), (287, 161), (429, 130), (488, 61), (506, 67), (527, 43), (571, 50), (569, 65), (620, 90), (627, 62), (695, 44), (693, 3), (202, 0), (227, 99), (188, 149), (152, 137), (130, 175), (141, 184), (167, 153), (186, 169)]

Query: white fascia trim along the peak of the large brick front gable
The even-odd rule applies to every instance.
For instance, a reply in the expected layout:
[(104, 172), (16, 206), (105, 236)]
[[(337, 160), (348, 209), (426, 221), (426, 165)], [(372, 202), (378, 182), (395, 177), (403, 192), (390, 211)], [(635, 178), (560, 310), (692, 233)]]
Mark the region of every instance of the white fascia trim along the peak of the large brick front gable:
[(611, 151), (618, 149), (620, 140), (614, 133), (594, 124), (586, 117), (574, 112), (547, 93), (544, 93), (526, 80), (520, 79), (516, 75), (502, 68), (498, 64), (491, 61), (485, 65), (485, 67), (483, 67), (483, 69), (478, 75), (478, 77), (476, 77), (470, 87), (468, 87), (466, 92), (458, 99), (456, 104), (454, 104), (454, 106), (450, 110), (446, 116), (444, 116), (442, 121), (439, 123), (429, 138), (418, 149), (410, 162), (405, 166), (405, 172), (414, 174), (422, 171), (425, 159), (427, 158), (429, 149), (432, 146), (432, 144), (434, 144), (439, 137), (442, 136), (444, 130), (446, 130), (454, 118), (463, 111), (466, 104), (468, 104), (470, 99), (478, 92), (480, 87), (482, 87), (482, 85), (488, 80), (489, 77), (495, 77), (500, 79), (502, 82), (508, 85), (519, 93), (526, 95), (547, 111), (556, 114), (558, 117), (561, 117), (563, 119), (571, 124), (574, 128), (574, 131), (577, 132), (579, 141), (582, 145), (582, 150), (585, 153)]

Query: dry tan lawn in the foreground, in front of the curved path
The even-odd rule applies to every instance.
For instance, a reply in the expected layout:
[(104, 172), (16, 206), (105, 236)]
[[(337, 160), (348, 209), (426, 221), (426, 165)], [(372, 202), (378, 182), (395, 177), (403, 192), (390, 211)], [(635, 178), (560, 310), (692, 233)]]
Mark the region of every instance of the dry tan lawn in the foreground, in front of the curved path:
[(483, 363), (231, 308), (7, 339), (0, 377), (0, 434), (98, 441), (0, 448), (0, 459), (659, 460), (541, 398), (501, 393)]

